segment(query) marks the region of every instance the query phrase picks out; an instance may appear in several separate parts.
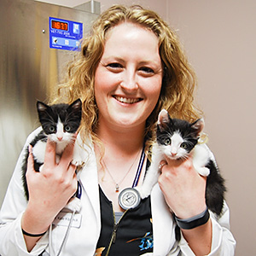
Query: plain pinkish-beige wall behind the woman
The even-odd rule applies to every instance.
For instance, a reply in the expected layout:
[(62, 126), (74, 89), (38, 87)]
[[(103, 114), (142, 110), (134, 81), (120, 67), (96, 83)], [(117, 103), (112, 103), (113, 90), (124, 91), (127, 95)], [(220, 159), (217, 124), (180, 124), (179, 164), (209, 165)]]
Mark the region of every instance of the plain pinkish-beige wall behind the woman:
[[(73, 7), (86, 1), (42, 1)], [(256, 2), (254, 0), (102, 0), (141, 3), (167, 19), (199, 79), (209, 145), (227, 181), (236, 256), (256, 252)], [(228, 255), (227, 255), (228, 256)]]

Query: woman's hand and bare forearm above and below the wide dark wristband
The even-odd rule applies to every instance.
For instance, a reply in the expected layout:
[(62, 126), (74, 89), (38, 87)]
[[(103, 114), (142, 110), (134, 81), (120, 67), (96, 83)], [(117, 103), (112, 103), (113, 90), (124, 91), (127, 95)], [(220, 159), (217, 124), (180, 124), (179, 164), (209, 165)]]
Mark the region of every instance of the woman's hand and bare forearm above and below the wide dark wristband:
[[(206, 209), (207, 178), (201, 177), (193, 166), (192, 157), (187, 160), (162, 161), (159, 185), (167, 205), (177, 218), (191, 218)], [(207, 255), (212, 246), (211, 219), (192, 230), (182, 230), (195, 255)]]

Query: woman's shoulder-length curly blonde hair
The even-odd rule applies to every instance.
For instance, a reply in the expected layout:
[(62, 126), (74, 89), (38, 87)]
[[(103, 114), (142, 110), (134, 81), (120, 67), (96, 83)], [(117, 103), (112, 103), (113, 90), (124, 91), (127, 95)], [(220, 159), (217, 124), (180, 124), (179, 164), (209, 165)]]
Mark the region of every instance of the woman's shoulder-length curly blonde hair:
[(96, 67), (102, 58), (106, 33), (121, 22), (132, 22), (143, 26), (159, 38), (159, 51), (164, 75), (160, 99), (147, 119), (145, 138), (148, 144), (154, 140), (155, 122), (160, 109), (165, 108), (172, 117), (195, 120), (199, 110), (194, 106), (195, 73), (190, 67), (177, 35), (154, 11), (141, 6), (114, 5), (94, 22), (90, 35), (84, 38), (81, 52), (69, 67), (68, 81), (61, 89), (68, 91), (68, 101), (80, 98), (83, 102), (83, 120), (80, 127), (82, 138), (97, 141), (97, 112), (94, 96)]

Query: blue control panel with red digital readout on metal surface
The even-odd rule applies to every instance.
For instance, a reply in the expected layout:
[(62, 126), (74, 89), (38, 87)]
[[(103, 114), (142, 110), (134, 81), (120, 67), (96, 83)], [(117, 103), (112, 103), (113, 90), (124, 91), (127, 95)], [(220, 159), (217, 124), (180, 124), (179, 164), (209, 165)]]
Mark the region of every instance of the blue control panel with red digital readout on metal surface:
[(78, 50), (83, 23), (49, 17), (49, 48)]

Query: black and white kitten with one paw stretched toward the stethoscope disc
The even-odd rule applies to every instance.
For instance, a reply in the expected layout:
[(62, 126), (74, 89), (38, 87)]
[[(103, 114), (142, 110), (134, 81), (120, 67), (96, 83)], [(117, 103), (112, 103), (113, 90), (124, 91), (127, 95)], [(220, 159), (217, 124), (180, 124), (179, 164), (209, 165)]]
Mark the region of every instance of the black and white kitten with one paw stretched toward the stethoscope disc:
[(152, 149), (152, 162), (148, 168), (143, 185), (137, 187), (142, 199), (148, 197), (154, 184), (160, 176), (160, 161), (186, 159), (193, 154), (195, 170), (207, 177), (206, 202), (209, 210), (221, 215), (224, 206), (224, 178), (218, 172), (218, 166), (211, 155), (212, 152), (205, 144), (198, 143), (204, 120), (198, 119), (194, 123), (181, 119), (171, 119), (165, 109), (158, 118), (156, 143)]

